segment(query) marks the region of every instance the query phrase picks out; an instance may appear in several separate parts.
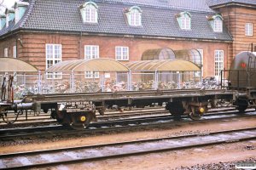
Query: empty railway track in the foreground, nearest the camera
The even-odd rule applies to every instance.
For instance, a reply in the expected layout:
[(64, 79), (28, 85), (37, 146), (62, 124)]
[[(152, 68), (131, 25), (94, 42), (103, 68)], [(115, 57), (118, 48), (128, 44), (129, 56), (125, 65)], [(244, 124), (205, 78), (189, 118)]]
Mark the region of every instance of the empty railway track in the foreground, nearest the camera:
[(32, 167), (49, 167), (84, 161), (138, 156), (170, 150), (184, 150), (193, 147), (203, 147), (251, 139), (256, 139), (256, 127), (212, 133), (196, 133), (159, 139), (85, 145), (55, 150), (37, 150), (0, 155), (0, 168), (27, 169)]

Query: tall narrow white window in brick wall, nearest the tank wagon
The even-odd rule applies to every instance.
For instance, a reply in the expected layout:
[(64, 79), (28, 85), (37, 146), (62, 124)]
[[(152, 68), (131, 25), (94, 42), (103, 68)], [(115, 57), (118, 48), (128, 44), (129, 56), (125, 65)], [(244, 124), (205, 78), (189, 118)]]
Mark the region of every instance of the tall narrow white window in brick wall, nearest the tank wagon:
[(214, 76), (220, 77), (221, 71), (224, 70), (224, 50), (214, 51)]

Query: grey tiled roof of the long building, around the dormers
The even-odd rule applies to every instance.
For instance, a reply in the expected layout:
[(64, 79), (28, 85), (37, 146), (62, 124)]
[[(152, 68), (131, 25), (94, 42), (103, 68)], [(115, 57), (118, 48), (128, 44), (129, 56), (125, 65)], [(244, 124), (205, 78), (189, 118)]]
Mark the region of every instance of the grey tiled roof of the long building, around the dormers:
[[(159, 3), (154, 3), (159, 1)], [(88, 33), (106, 33), (119, 35), (149, 36), (149, 37), (181, 37), (181, 38), (199, 38), (213, 40), (232, 40), (227, 29), (221, 33), (213, 32), (206, 16), (215, 14), (199, 3), (195, 3), (194, 10), (189, 10), (188, 4), (183, 2), (205, 2), (206, 0), (102, 0), (94, 1), (98, 5), (99, 20), (97, 24), (84, 24), (82, 22), (79, 6), (84, 0), (30, 0), (30, 6), (24, 17), (14, 25), (10, 23), (9, 29), (0, 31), (0, 35), (7, 31), (16, 29), (40, 30), (40, 31), (73, 31)], [(176, 2), (177, 6), (162, 7), (166, 2)], [(143, 10), (143, 26), (128, 26), (125, 21), (124, 8), (130, 8), (137, 4)], [(148, 5), (150, 4), (150, 5)], [(154, 5), (153, 5), (154, 4)], [(182, 12), (180, 6), (188, 8), (192, 15), (191, 31), (180, 30), (175, 14)], [(192, 7), (191, 6), (191, 7)], [(202, 10), (205, 8), (205, 10)], [(1, 37), (1, 36), (0, 36)]]

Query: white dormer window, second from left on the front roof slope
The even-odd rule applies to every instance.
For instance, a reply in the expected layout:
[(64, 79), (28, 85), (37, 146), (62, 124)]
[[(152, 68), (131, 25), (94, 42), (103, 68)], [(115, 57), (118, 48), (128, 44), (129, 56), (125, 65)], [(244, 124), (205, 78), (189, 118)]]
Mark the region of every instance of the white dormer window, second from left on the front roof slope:
[(137, 6), (133, 6), (125, 11), (128, 24), (130, 26), (142, 26), (143, 10)]

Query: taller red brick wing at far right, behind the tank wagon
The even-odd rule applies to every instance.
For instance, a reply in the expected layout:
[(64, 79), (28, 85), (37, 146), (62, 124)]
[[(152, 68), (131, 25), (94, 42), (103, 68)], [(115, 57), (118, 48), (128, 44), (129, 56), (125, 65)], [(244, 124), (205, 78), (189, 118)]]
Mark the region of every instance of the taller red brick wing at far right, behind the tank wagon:
[(233, 59), (241, 51), (256, 51), (256, 1), (213, 0), (208, 4), (222, 14), (224, 25), (233, 38), (229, 59)]

